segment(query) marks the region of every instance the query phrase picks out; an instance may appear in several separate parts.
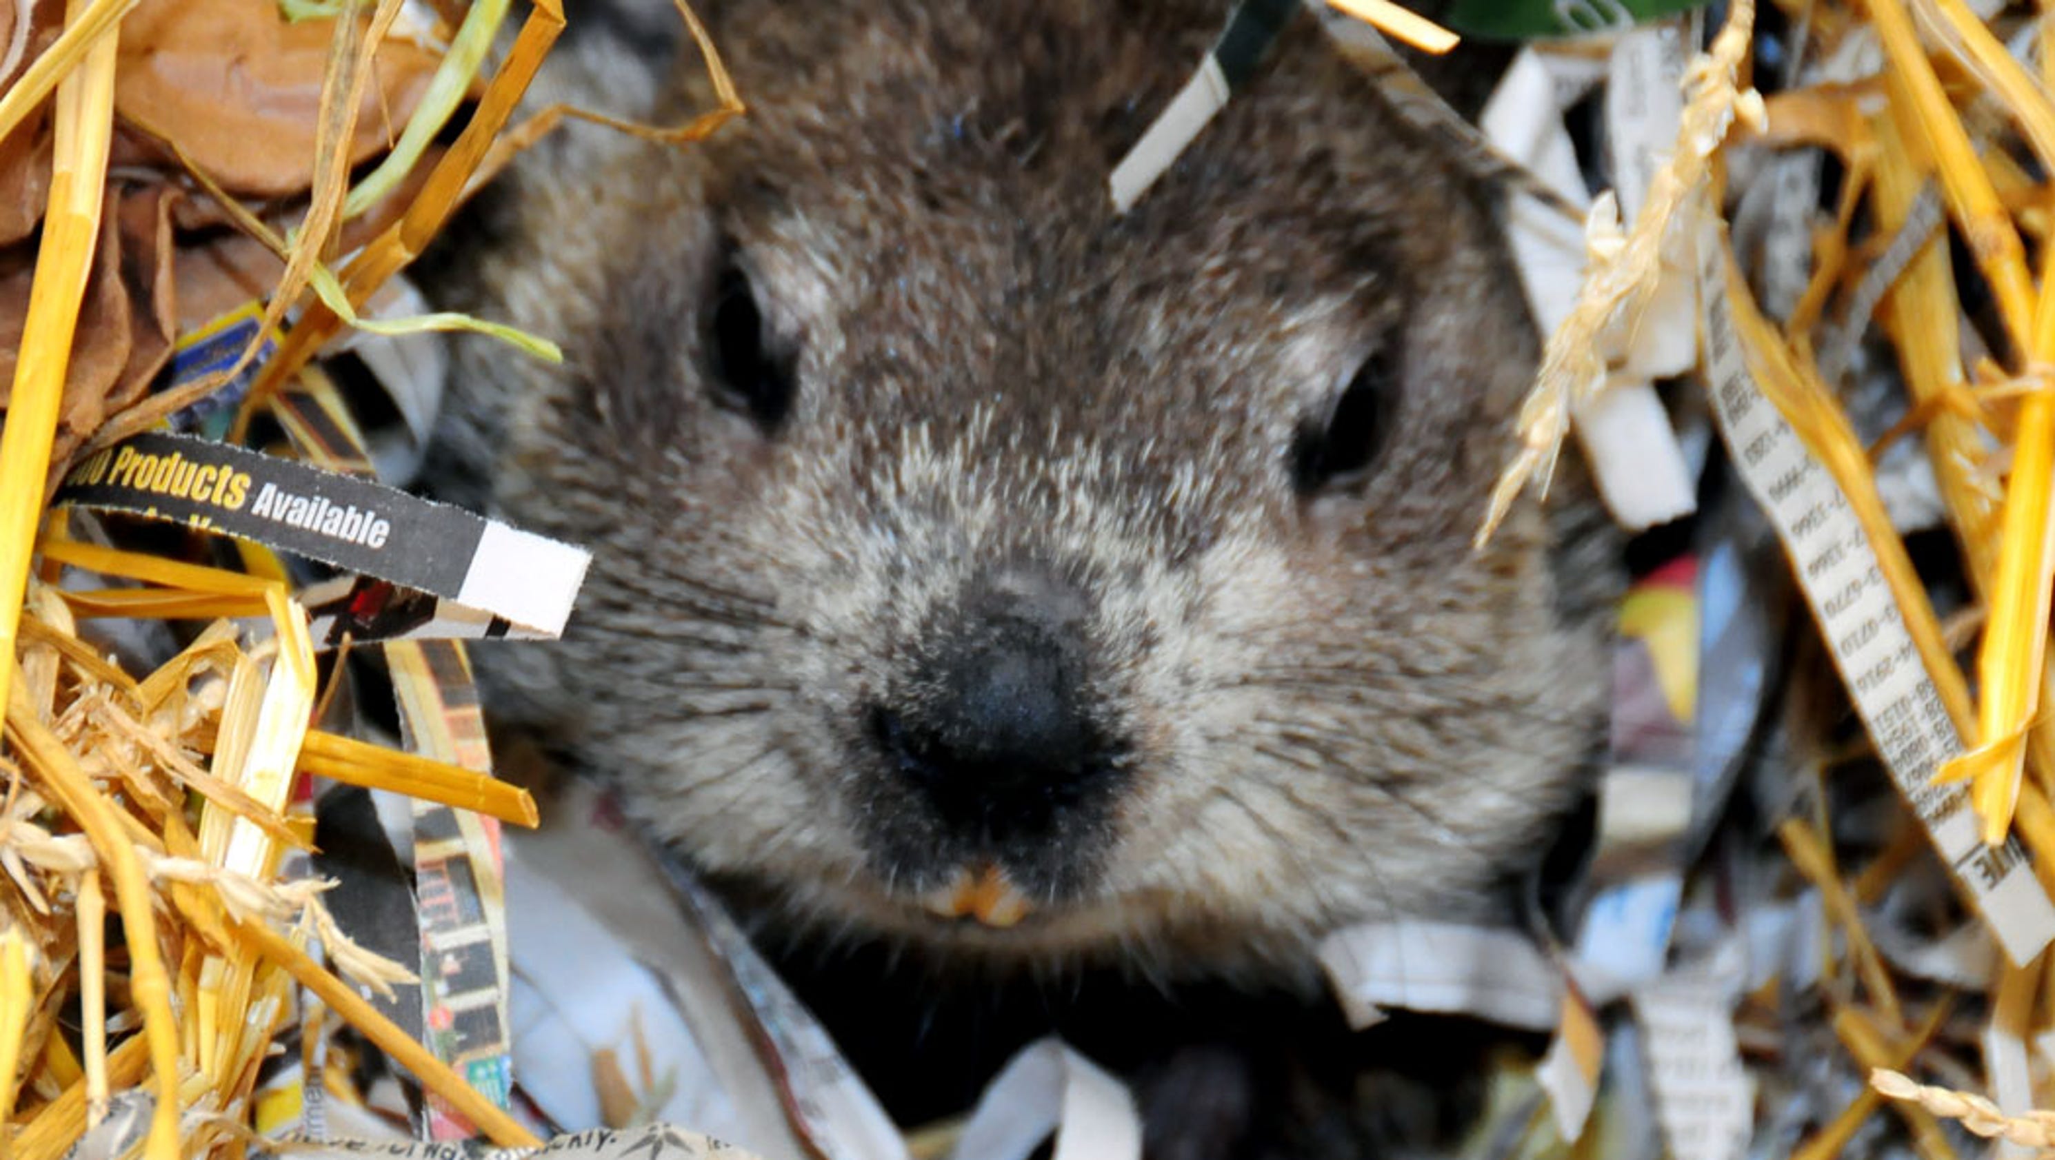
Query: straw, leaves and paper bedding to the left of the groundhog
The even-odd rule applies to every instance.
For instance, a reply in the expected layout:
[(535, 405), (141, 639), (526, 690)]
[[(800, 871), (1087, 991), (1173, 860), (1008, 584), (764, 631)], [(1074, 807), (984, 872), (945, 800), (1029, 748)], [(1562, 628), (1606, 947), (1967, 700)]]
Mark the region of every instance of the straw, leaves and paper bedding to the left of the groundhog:
[[(429, 1043), (395, 1022), (395, 988), (427, 985), (444, 1016), (460, 996), (343, 934), (306, 862), (316, 780), (413, 797), (452, 819), (436, 854), (464, 862), (450, 897), (499, 920), (493, 819), (534, 825), (536, 809), (491, 776), (462, 647), (438, 636), (506, 622), (360, 577), (316, 641), (306, 569), (261, 542), (222, 552), (47, 507), (80, 456), (164, 425), (275, 419), (310, 464), (366, 470), (368, 441), (316, 365), (345, 324), (471, 328), (555, 357), (489, 320), (390, 310), (407, 298), (393, 275), (563, 117), (503, 131), (563, 29), (559, 4), (512, 37), (503, 0), (440, 8), (448, 21), (401, 0), (0, 4), (0, 1152), (240, 1156), (319, 1129), (316, 1096), (339, 1117), (364, 1109), (353, 1043), (425, 1090), (442, 1135), (540, 1146), (481, 1070), (475, 1018)], [(686, 21), (721, 107), (645, 136), (690, 142), (740, 111)], [(495, 43), (510, 47), (489, 60)], [(432, 409), (436, 384), (386, 386), (405, 413)], [(166, 460), (162, 476), (166, 493), (247, 503), (230, 466), (201, 478)], [(156, 548), (111, 546), (138, 538)], [(323, 684), (316, 651), (366, 632), (425, 636), (393, 665), (413, 751), (316, 727), (343, 684), (339, 661)], [(503, 930), (497, 951), (503, 979)], [(288, 1047), (304, 1068), (282, 1082)]]

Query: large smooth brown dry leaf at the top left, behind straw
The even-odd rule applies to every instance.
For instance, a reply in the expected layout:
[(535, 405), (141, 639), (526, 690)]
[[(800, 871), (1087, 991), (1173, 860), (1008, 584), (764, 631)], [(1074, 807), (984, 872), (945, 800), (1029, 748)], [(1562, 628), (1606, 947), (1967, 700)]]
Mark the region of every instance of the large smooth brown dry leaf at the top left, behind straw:
[[(144, 0), (121, 25), (115, 109), (177, 142), (224, 189), (304, 191), (333, 31), (333, 21), (288, 23), (275, 0)], [(407, 41), (380, 45), (351, 164), (399, 136), (436, 64)]]

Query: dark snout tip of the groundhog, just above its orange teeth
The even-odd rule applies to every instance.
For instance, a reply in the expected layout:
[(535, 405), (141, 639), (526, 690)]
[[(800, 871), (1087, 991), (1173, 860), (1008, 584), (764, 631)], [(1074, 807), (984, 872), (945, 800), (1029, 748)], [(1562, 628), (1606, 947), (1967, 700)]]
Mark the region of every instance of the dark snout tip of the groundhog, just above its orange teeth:
[(1048, 827), (1118, 766), (1091, 688), (1083, 595), (1042, 573), (974, 585), (871, 708), (890, 776), (966, 836)]

